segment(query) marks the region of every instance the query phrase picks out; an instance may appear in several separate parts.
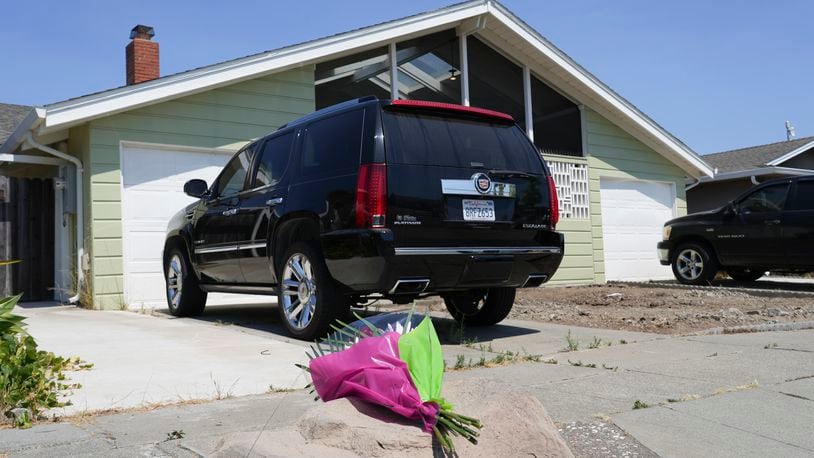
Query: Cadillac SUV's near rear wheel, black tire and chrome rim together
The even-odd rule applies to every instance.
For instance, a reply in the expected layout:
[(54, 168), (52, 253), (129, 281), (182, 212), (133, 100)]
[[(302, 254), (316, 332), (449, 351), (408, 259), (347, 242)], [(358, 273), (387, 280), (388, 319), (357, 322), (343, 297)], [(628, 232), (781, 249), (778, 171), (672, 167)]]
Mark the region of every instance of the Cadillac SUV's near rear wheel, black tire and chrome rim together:
[(283, 325), (298, 339), (325, 335), (331, 323), (347, 314), (349, 303), (337, 291), (322, 252), (314, 243), (296, 242), (283, 260), (277, 295)]

